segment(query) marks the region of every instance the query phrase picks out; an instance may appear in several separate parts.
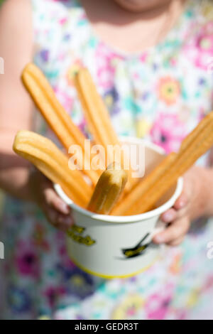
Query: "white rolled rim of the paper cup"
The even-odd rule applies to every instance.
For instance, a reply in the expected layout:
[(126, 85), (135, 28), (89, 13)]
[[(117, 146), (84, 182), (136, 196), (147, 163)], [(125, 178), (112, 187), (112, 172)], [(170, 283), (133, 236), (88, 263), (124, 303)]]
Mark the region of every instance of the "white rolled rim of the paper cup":
[[(128, 141), (129, 142), (141, 141), (143, 142), (143, 144), (148, 146), (150, 149), (153, 149), (154, 151), (157, 151), (158, 153), (161, 153), (161, 154), (165, 153), (165, 151), (161, 147), (149, 141), (146, 141), (144, 139), (138, 139), (136, 137), (131, 137), (131, 136), (128, 136), (128, 137), (120, 136), (119, 138), (121, 139), (121, 141), (127, 141), (127, 142)], [(176, 182), (176, 188), (175, 188), (173, 195), (163, 205), (160, 205), (158, 208), (154, 210), (144, 212), (139, 215), (126, 215), (126, 216), (99, 215), (97, 213), (88, 211), (84, 208), (81, 208), (79, 205), (73, 203), (73, 201), (65, 194), (65, 192), (62, 190), (59, 184), (53, 184), (53, 186), (55, 188), (56, 193), (60, 196), (60, 198), (62, 198), (62, 200), (65, 201), (65, 203), (67, 203), (67, 205), (69, 205), (72, 208), (72, 210), (75, 210), (81, 213), (82, 215), (90, 217), (94, 220), (102, 220), (104, 222), (109, 222), (109, 223), (111, 222), (124, 223), (124, 222), (137, 222), (141, 220), (147, 220), (149, 218), (161, 215), (161, 213), (171, 208), (175, 200), (180, 196), (180, 193), (182, 192), (183, 178), (182, 177), (178, 178), (178, 181)]]

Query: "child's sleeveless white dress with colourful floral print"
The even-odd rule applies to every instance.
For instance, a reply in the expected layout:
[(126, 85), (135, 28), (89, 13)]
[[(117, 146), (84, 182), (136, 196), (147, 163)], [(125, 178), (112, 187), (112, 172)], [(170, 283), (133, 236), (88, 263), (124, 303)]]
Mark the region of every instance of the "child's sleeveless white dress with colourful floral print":
[[(32, 10), (34, 61), (85, 134), (72, 83), (82, 65), (92, 73), (117, 133), (146, 138), (168, 153), (212, 109), (209, 1), (187, 1), (165, 39), (135, 55), (97, 37), (77, 1), (33, 0)], [(40, 119), (35, 129), (53, 138)], [(209, 154), (199, 161), (210, 162)], [(146, 272), (111, 280), (78, 269), (67, 256), (65, 235), (34, 205), (6, 198), (1, 225), (3, 318), (213, 319), (211, 220), (193, 223), (180, 247), (166, 248)]]

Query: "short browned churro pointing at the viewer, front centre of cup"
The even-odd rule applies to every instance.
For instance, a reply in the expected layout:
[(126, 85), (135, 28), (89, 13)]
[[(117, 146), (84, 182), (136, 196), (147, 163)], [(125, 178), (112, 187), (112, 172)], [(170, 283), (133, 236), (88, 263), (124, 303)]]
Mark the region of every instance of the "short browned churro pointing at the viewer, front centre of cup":
[(111, 163), (100, 176), (87, 210), (107, 215), (119, 200), (126, 181), (126, 171), (117, 163)]

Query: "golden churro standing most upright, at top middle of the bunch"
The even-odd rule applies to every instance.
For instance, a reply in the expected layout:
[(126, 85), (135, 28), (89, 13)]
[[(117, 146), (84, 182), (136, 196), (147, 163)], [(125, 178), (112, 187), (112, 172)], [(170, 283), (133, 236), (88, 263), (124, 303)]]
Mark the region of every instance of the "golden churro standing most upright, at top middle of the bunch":
[[(91, 131), (94, 137), (94, 142), (104, 148), (105, 166), (116, 161), (116, 152), (118, 152), (117, 162), (121, 163), (122, 168), (125, 168), (129, 174), (129, 182), (126, 185), (126, 190), (129, 190), (136, 183), (136, 178), (131, 177), (129, 158), (121, 149), (118, 136), (111, 124), (109, 112), (104, 105), (102, 97), (97, 92), (97, 88), (87, 68), (81, 68), (77, 72), (74, 82), (89, 131)], [(114, 151), (112, 154), (110, 154), (110, 149)]]

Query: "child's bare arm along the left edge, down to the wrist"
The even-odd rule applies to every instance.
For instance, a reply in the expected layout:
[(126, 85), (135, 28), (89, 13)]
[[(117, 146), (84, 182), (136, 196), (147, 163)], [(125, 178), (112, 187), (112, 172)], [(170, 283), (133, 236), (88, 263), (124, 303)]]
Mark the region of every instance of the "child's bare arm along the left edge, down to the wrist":
[(0, 50), (4, 74), (0, 75), (0, 187), (18, 198), (31, 198), (29, 164), (12, 151), (19, 129), (31, 129), (32, 104), (21, 84), (24, 65), (33, 54), (31, 3), (8, 0), (0, 11)]

